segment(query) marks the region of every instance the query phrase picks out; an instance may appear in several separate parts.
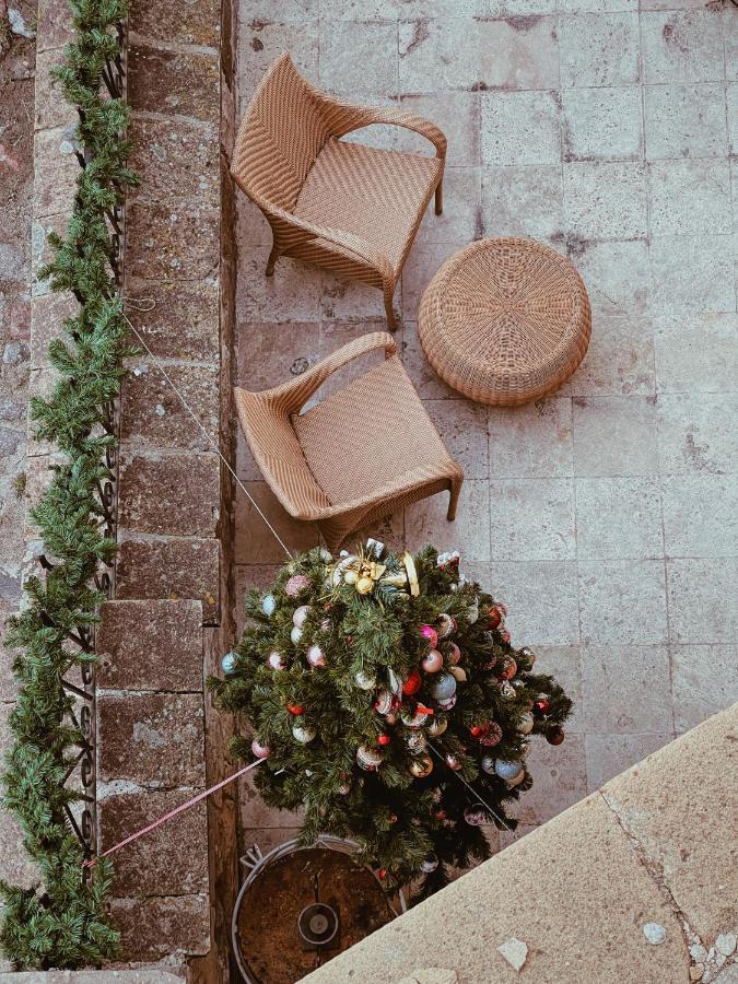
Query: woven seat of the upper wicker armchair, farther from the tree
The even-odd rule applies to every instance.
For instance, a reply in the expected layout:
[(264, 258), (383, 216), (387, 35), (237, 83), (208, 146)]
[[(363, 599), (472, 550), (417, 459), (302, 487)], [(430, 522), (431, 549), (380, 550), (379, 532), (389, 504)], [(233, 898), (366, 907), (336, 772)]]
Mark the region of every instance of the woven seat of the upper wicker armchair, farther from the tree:
[(442, 167), (438, 157), (331, 138), (308, 172), (294, 214), (361, 236), (399, 273)]

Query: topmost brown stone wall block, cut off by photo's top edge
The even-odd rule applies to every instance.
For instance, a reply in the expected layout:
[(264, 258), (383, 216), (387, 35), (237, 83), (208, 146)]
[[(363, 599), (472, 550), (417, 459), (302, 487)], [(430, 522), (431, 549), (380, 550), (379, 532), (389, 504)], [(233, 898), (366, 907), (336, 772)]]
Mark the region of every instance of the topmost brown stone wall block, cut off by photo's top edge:
[(128, 28), (137, 39), (216, 48), (220, 42), (220, 0), (132, 0)]

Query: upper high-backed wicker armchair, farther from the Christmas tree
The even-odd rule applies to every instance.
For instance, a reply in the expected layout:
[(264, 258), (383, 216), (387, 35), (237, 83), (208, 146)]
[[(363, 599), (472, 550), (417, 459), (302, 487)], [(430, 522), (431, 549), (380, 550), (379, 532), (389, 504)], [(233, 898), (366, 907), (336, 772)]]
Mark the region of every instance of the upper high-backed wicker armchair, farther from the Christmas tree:
[[(340, 140), (370, 124), (393, 124), (427, 138), (435, 157)], [(231, 173), (267, 216), (280, 256), (326, 267), (393, 294), (425, 208), (443, 208), (446, 138), (399, 109), (353, 106), (315, 89), (281, 55), (259, 83), (238, 129)]]

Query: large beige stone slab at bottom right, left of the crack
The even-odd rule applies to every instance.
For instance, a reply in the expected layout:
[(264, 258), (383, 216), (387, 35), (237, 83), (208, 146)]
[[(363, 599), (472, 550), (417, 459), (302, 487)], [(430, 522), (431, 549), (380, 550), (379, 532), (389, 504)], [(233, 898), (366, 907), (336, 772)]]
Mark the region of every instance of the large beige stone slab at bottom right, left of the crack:
[[(563, 751), (566, 743), (554, 751)], [(550, 918), (541, 918), (540, 906), (531, 905), (531, 899), (540, 893), (541, 871), (547, 872)], [(577, 917), (559, 917), (571, 911), (573, 894)], [(503, 897), (505, 904), (500, 905)], [(635, 905), (634, 899), (639, 900)], [(476, 939), (465, 936), (459, 940), (448, 932), (449, 912), (459, 923), (475, 922), (482, 932)], [(641, 926), (648, 921), (667, 929), (660, 947), (652, 947), (643, 936)], [(304, 980), (306, 984), (343, 984), (347, 980), (386, 984), (387, 967), (391, 965), (394, 980), (400, 980), (432, 961), (436, 967), (454, 968), (468, 981), (479, 981), (480, 968), (484, 968), (489, 980), (516, 982), (520, 975), (495, 950), (511, 936), (524, 940), (529, 949), (522, 973), (540, 984), (684, 980), (678, 919), (598, 797), (589, 797), (575, 812), (517, 841), (412, 909), (401, 922), (390, 923)]]

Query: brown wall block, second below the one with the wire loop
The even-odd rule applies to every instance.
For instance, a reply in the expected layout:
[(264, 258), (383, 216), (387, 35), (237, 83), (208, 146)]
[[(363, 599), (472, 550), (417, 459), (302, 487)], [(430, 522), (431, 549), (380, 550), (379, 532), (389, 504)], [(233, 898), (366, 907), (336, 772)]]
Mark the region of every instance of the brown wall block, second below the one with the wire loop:
[(118, 522), (134, 532), (213, 537), (220, 517), (216, 455), (126, 456), (120, 462)]

